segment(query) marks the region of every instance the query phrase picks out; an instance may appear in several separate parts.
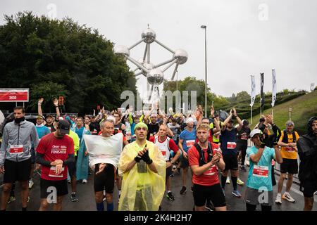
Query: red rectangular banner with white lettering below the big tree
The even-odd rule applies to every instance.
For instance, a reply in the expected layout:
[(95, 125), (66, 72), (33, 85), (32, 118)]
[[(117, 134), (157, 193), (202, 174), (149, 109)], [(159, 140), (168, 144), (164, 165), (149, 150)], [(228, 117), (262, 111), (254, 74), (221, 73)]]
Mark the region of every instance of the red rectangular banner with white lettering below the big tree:
[(0, 102), (29, 101), (29, 89), (0, 89)]

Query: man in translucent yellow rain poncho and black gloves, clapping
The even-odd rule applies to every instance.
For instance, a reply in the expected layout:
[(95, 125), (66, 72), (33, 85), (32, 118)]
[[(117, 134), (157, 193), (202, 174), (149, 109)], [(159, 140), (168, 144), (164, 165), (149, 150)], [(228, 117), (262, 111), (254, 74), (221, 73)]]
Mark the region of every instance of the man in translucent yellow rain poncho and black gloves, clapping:
[(165, 192), (166, 161), (147, 141), (147, 124), (135, 126), (137, 140), (123, 149), (119, 176), (123, 176), (119, 211), (157, 211)]

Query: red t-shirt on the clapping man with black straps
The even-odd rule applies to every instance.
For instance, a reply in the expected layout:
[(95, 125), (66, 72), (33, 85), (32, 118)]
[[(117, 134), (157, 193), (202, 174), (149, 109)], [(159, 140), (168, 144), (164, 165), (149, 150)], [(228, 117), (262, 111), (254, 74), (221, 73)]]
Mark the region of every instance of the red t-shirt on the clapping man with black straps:
[[(213, 155), (216, 154), (218, 148), (219, 148), (218, 145), (216, 145), (215, 143), (211, 143), (211, 149), (213, 150)], [(204, 151), (204, 158), (206, 159), (208, 157), (207, 149), (203, 149), (203, 151)], [(192, 146), (188, 150), (188, 162), (190, 166), (192, 165), (199, 166), (199, 152), (195, 146)], [(204, 172), (204, 174), (201, 174), (199, 176), (193, 173), (192, 183), (202, 185), (202, 186), (213, 186), (215, 184), (219, 184), (217, 166), (213, 165), (209, 170)]]

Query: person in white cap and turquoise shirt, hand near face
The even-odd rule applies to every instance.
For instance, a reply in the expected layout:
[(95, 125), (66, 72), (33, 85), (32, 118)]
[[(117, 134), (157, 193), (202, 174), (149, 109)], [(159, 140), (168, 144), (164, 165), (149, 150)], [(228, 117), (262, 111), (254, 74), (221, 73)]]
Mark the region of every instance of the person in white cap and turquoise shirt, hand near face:
[(274, 149), (266, 147), (260, 129), (251, 131), (250, 136), (254, 146), (247, 150), (250, 158), (245, 192), (247, 211), (255, 211), (256, 205), (261, 205), (262, 211), (271, 211), (273, 205), (272, 160), (282, 163), (282, 155), (280, 155), (278, 143), (273, 144)]

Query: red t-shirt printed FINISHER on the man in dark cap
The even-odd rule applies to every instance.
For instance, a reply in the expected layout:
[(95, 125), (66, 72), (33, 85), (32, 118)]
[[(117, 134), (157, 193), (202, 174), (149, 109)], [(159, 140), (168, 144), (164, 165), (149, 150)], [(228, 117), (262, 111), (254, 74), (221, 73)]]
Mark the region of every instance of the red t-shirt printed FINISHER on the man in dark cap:
[[(54, 133), (44, 136), (37, 146), (37, 153), (44, 154), (44, 160), (67, 160), (69, 154), (74, 154), (74, 141), (70, 136), (57, 139)], [(55, 167), (42, 165), (41, 178), (49, 181), (62, 181), (67, 179), (67, 166), (63, 166), (61, 174), (55, 174)]]

